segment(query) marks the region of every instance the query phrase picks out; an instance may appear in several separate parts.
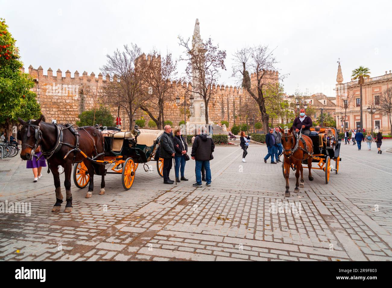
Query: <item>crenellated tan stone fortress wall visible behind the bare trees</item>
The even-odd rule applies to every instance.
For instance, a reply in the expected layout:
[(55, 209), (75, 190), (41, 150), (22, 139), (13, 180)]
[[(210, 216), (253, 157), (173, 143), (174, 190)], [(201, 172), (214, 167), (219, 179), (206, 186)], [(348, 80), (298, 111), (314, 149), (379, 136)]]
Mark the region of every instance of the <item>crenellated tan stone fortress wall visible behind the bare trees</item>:
[[(29, 66), (29, 75), (35, 81), (35, 87), (31, 89), (37, 95), (37, 101), (41, 105), (42, 114), (44, 114), (46, 121), (56, 120), (57, 123), (76, 123), (79, 120), (78, 115), (85, 110), (98, 109), (100, 101), (99, 89), (107, 83), (113, 81), (109, 75), (103, 79), (101, 73), (98, 78), (95, 77), (94, 72), (90, 75), (83, 72), (80, 76), (78, 71), (74, 72), (71, 77), (71, 72), (67, 70), (65, 77), (62, 71), (58, 69), (56, 75), (53, 75), (51, 68), (47, 70), (47, 75), (44, 75), (44, 69), (40, 66), (34, 69)], [(24, 72), (24, 68), (21, 69)], [(27, 71), (26, 71), (27, 72)], [(267, 71), (268, 78), (271, 82), (278, 80), (278, 71)], [(250, 75), (252, 84), (255, 83), (255, 74)], [(185, 85), (186, 83), (183, 83)], [(188, 83), (188, 85), (191, 85)], [(241, 102), (244, 99), (246, 91), (241, 87), (230, 87), (228, 85), (217, 85), (213, 87), (216, 93), (209, 102), (209, 118), (218, 123), (222, 120), (229, 121), (229, 127), (234, 123), (240, 124), (245, 120), (238, 117), (238, 110)], [(180, 103), (183, 103), (185, 89), (178, 85), (178, 92), (176, 96), (180, 96)], [(173, 97), (173, 99), (175, 96)], [(165, 103), (165, 120), (173, 122), (173, 126), (178, 126), (181, 120), (184, 120), (183, 112), (180, 112), (180, 105), (176, 101)], [(117, 117), (117, 108), (112, 109), (114, 117)], [(146, 125), (150, 117), (142, 110), (138, 110), (134, 115), (134, 119), (138, 120), (140, 117), (146, 120)], [(124, 111), (120, 110), (120, 118), (122, 119), (122, 129), (128, 129), (129, 117)], [(256, 122), (260, 119), (256, 119)]]

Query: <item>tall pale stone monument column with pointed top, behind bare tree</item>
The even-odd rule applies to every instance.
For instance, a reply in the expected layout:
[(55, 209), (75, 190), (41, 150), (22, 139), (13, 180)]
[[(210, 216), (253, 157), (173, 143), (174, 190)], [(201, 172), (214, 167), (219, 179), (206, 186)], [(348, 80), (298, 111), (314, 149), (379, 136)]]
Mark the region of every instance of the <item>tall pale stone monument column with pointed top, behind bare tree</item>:
[[(205, 53), (206, 50), (203, 47), (203, 40), (201, 40), (200, 37), (200, 26), (199, 26), (199, 20), (196, 19), (194, 31), (193, 31), (193, 36), (192, 36), (192, 50), (190, 51), (190, 54), (197, 55), (199, 53)], [(192, 96), (194, 98), (193, 102), (193, 109), (194, 113), (193, 116), (189, 118), (189, 121), (187, 121), (187, 134), (193, 134), (193, 129), (198, 129), (201, 126), (205, 126), (205, 111), (207, 110), (207, 107), (205, 107), (205, 103), (203, 100), (203, 97), (195, 92), (195, 89), (197, 87), (200, 87), (198, 84), (198, 73), (199, 71), (192, 71)], [(203, 107), (204, 106), (204, 107)], [(204, 114), (203, 114), (204, 112)], [(208, 120), (209, 124), (214, 124), (214, 122)]]

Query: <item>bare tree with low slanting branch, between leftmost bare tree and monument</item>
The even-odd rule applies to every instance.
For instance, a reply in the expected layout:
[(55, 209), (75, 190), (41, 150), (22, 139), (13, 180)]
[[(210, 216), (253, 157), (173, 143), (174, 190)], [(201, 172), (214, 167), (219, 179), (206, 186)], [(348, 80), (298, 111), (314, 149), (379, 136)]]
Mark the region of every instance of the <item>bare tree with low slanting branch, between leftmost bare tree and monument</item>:
[(145, 54), (142, 54), (137, 61), (137, 67), (143, 71), (143, 85), (152, 95), (140, 108), (149, 114), (159, 129), (163, 129), (164, 105), (174, 100), (176, 83), (181, 85), (181, 79), (171, 81), (177, 75), (177, 61), (172, 59), (171, 53), (161, 58), (159, 53), (153, 51), (147, 59)]

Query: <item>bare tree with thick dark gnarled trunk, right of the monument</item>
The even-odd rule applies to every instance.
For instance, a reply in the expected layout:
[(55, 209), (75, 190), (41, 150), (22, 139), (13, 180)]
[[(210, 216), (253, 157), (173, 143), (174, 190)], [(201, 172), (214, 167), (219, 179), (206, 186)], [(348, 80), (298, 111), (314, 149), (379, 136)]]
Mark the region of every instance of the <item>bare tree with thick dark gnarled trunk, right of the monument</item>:
[[(268, 129), (269, 115), (265, 108), (265, 100), (275, 97), (267, 96), (265, 91), (274, 82), (270, 78), (269, 71), (275, 71), (278, 63), (268, 46), (257, 45), (254, 47), (244, 47), (233, 54), (234, 65), (232, 67), (233, 77), (237, 77), (242, 82), (242, 87), (256, 100), (264, 129)], [(249, 71), (255, 74), (255, 85), (252, 87)], [(278, 76), (276, 82), (283, 79), (285, 75)]]

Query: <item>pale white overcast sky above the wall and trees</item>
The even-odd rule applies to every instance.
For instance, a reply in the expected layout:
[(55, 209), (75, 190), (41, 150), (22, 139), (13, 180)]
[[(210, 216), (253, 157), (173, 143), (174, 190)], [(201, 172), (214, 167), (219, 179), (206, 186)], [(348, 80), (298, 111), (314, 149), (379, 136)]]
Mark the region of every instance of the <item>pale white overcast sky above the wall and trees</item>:
[(51, 67), (63, 76), (67, 69), (98, 75), (105, 55), (130, 43), (178, 58), (177, 37), (191, 37), (196, 18), (201, 38), (227, 52), (225, 85), (236, 85), (232, 53), (260, 43), (275, 49), (279, 72), (290, 74), (283, 82), (288, 94), (299, 88), (334, 96), (338, 58), (344, 82), (359, 65), (372, 77), (392, 69), (391, 1), (0, 0), (0, 7), (26, 71), (41, 65), (44, 74)]

